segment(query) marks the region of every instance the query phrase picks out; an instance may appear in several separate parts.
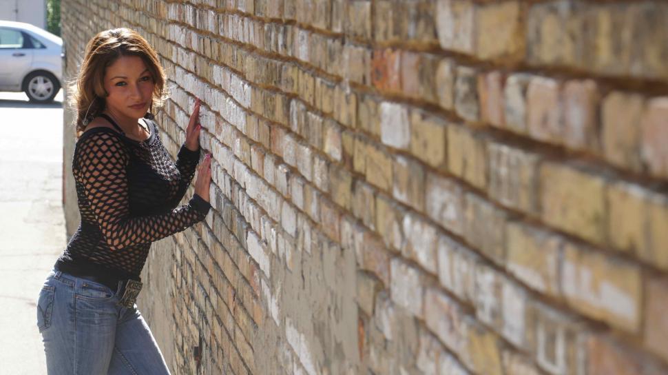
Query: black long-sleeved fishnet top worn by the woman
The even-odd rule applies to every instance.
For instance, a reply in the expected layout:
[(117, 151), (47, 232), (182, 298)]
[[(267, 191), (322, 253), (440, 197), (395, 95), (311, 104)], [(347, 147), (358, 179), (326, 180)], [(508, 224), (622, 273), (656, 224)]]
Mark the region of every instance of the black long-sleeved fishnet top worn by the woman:
[(148, 117), (151, 136), (145, 141), (129, 139), (107, 117), (118, 131), (92, 128), (76, 142), (72, 172), (81, 224), (56, 262), (59, 270), (139, 280), (152, 241), (185, 230), (209, 212), (197, 194), (176, 207), (200, 150), (183, 145), (174, 163)]

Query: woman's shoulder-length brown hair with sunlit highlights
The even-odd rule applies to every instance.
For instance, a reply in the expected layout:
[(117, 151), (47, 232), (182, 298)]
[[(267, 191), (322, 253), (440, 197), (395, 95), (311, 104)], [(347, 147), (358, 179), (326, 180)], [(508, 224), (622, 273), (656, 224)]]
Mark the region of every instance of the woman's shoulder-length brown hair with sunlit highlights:
[(99, 32), (86, 45), (76, 81), (70, 85), (70, 106), (76, 111), (75, 134), (83, 133), (86, 125), (105, 110), (104, 77), (107, 66), (122, 56), (140, 57), (154, 80), (153, 99), (149, 111), (160, 108), (167, 99), (165, 71), (158, 54), (149, 43), (134, 30), (117, 28)]

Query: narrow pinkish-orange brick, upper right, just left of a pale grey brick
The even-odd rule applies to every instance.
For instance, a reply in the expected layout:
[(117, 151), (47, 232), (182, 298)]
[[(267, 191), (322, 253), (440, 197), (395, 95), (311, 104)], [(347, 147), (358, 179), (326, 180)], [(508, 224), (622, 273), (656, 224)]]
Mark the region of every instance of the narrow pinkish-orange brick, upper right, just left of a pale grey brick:
[(503, 81), (501, 72), (494, 70), (478, 75), (480, 119), (490, 125), (503, 128)]

